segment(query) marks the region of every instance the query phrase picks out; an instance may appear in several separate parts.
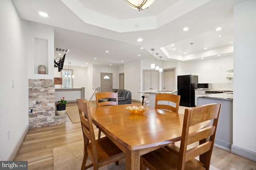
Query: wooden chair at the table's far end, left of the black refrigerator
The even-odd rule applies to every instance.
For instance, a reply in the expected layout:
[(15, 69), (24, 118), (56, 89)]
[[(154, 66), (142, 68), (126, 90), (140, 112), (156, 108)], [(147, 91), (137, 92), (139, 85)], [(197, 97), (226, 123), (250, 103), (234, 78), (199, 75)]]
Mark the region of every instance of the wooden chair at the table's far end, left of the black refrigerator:
[[(161, 101), (165, 101), (166, 104), (163, 104), (163, 102), (161, 103)], [(167, 102), (168, 102), (168, 104), (167, 104)], [(166, 110), (178, 113), (179, 105), (180, 105), (180, 96), (179, 95), (165, 94), (165, 93), (156, 94), (156, 99), (155, 99), (155, 108), (156, 109), (166, 109)]]

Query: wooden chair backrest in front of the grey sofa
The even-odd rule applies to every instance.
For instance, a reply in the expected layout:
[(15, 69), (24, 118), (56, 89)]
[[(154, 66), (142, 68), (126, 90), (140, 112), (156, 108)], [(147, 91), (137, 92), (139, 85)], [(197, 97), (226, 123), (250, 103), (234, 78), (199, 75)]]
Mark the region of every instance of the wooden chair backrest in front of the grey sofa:
[[(95, 95), (97, 106), (118, 105), (118, 95), (115, 92), (100, 92)], [(115, 98), (116, 101), (108, 101), (108, 98)], [(106, 99), (106, 101), (102, 100), (102, 102), (99, 102), (99, 99)]]

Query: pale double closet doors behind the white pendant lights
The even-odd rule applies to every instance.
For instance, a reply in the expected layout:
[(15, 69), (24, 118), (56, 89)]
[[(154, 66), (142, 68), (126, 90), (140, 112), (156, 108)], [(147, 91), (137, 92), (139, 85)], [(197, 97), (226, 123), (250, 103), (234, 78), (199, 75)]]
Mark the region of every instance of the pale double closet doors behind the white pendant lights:
[(144, 71), (144, 90), (158, 90), (158, 71)]

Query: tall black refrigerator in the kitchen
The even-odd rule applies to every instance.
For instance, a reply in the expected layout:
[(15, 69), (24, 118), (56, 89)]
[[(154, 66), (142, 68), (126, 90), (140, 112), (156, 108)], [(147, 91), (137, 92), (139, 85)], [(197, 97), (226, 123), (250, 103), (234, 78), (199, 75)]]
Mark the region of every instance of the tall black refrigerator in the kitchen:
[(178, 76), (178, 95), (180, 95), (180, 106), (195, 106), (195, 89), (197, 89), (198, 76)]

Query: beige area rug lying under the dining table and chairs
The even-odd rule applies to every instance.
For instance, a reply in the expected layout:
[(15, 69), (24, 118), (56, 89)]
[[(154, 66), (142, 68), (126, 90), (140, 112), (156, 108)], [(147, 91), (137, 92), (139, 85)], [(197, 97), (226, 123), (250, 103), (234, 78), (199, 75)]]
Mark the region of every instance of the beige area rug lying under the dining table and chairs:
[[(53, 149), (54, 170), (80, 170), (83, 161), (83, 141), (70, 145), (56, 147)], [(86, 164), (90, 164), (88, 156)], [(119, 160), (119, 164), (114, 162), (99, 168), (100, 170), (125, 170), (125, 159)], [(93, 167), (88, 168), (93, 170)], [(220, 170), (210, 166), (210, 170)]]

